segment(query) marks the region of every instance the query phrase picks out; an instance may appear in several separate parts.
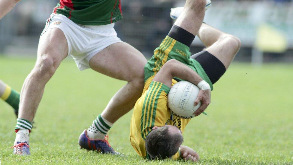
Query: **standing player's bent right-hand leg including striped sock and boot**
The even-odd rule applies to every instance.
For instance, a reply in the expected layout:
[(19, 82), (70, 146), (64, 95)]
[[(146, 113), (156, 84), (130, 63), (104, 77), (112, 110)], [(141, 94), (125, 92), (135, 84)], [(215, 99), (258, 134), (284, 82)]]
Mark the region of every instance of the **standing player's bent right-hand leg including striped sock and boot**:
[(89, 66), (93, 70), (128, 83), (112, 97), (89, 129), (81, 133), (81, 148), (98, 153), (119, 154), (104, 138), (113, 123), (129, 112), (140, 97), (144, 86), (145, 65), (145, 57), (125, 42), (112, 44), (92, 57)]

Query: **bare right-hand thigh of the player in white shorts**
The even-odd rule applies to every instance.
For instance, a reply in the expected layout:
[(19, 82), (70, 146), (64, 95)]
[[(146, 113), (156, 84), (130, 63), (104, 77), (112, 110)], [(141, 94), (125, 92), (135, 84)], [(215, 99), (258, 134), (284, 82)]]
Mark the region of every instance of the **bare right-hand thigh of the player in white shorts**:
[(89, 60), (89, 66), (104, 75), (125, 81), (143, 78), (146, 58), (125, 42), (111, 44)]

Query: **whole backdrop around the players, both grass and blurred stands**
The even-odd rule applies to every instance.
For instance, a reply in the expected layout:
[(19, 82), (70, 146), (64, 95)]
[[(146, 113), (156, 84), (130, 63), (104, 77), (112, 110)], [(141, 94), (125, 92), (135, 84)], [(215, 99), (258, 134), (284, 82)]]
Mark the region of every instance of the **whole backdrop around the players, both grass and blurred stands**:
[[(115, 24), (118, 36), (146, 58), (153, 55), (173, 24), (170, 8), (185, 3), (185, 0), (121, 1), (123, 20)], [(58, 2), (21, 0), (0, 20), (0, 79), (15, 90), (20, 91), (34, 66), (39, 35)], [(214, 84), (211, 104), (206, 110), (210, 117), (201, 115), (190, 121), (184, 145), (200, 153), (199, 164), (293, 165), (292, 0), (212, 0), (204, 21), (240, 38), (242, 47), (228, 72)], [(202, 49), (196, 38), (191, 52)], [(109, 133), (110, 144), (126, 157), (101, 157), (77, 147), (80, 132), (125, 83), (91, 69), (80, 72), (68, 57), (47, 83), (34, 119), (37, 129), (33, 129), (30, 142), (31, 151), (36, 154), (27, 158), (12, 155), (9, 147), (15, 137), (15, 116), (13, 109), (0, 101), (0, 161), (3, 164), (152, 163), (140, 159), (129, 143), (132, 112), (119, 119)]]

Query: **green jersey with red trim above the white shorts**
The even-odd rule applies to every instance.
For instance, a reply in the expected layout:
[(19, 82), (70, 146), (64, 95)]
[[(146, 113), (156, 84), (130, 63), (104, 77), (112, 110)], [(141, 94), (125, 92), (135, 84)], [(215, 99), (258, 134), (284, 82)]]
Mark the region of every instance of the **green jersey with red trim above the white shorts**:
[(106, 25), (122, 19), (121, 0), (60, 0), (53, 13), (82, 25)]

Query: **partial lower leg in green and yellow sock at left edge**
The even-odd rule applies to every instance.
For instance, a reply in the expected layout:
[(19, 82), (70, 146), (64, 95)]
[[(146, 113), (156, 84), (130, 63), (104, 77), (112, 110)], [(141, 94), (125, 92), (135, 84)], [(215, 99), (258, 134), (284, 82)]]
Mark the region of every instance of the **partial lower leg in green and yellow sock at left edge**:
[(14, 113), (17, 117), (20, 94), (0, 80), (0, 97), (14, 108)]

